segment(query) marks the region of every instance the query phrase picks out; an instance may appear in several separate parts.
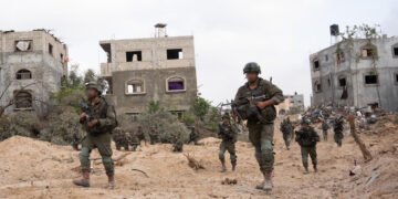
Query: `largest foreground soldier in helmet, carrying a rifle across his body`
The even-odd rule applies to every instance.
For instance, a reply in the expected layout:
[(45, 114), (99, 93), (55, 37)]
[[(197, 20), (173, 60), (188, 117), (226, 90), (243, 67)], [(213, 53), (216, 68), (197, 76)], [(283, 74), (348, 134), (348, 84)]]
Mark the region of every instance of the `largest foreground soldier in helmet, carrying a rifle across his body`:
[[(274, 119), (276, 117), (274, 105), (283, 102), (284, 97), (277, 86), (259, 76), (261, 70), (256, 63), (248, 63), (243, 69), (243, 73), (248, 78), (248, 83), (238, 90), (234, 98), (235, 102), (243, 97), (258, 95), (265, 95), (266, 97), (265, 101), (256, 102), (255, 104), (251, 103), (249, 106), (242, 105), (238, 107), (237, 112), (240, 117), (242, 117), (241, 113), (247, 113), (242, 119), (248, 119), (249, 138), (255, 147), (255, 158), (264, 177), (263, 182), (255, 188), (271, 191), (273, 188), (271, 177), (274, 164), (272, 142)], [(234, 115), (237, 115), (237, 113), (234, 113)]]

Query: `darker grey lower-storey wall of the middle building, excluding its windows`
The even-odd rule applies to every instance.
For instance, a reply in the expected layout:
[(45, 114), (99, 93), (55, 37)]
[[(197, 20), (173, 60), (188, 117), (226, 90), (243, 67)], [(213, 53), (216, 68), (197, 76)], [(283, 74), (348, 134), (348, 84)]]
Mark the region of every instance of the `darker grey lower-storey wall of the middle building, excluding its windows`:
[[(186, 91), (167, 92), (166, 80), (172, 76), (186, 78)], [(113, 97), (116, 112), (142, 113), (147, 109), (150, 101), (160, 101), (170, 111), (186, 111), (190, 107), (197, 96), (197, 82), (195, 67), (139, 70), (113, 73)], [(144, 82), (143, 94), (127, 94), (126, 82), (138, 80)]]

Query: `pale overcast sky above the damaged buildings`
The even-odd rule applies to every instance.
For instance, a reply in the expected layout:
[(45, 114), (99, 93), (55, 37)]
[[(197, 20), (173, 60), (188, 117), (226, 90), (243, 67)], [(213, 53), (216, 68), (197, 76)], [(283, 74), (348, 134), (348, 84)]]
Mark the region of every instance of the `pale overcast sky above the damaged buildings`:
[(398, 0), (1, 0), (0, 8), (0, 30), (51, 29), (70, 63), (97, 72), (106, 60), (100, 40), (149, 38), (167, 23), (170, 36), (195, 36), (199, 91), (214, 105), (233, 98), (247, 62), (310, 105), (308, 55), (331, 44), (333, 23), (377, 23), (398, 35)]

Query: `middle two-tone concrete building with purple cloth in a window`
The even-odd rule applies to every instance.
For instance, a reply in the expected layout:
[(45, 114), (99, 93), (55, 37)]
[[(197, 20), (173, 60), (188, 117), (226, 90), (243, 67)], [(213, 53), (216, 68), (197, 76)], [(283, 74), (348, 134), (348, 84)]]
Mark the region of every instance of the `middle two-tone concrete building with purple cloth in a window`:
[(159, 101), (180, 115), (197, 97), (193, 36), (168, 36), (161, 23), (155, 28), (154, 38), (100, 41), (107, 55), (101, 75), (117, 114), (136, 115)]

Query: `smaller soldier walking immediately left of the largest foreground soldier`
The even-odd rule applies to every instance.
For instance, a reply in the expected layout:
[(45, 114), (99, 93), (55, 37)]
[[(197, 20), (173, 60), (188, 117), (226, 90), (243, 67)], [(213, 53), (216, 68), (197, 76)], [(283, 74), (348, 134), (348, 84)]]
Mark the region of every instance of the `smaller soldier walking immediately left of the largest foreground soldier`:
[(235, 170), (237, 167), (237, 154), (235, 146), (238, 129), (230, 123), (230, 117), (228, 114), (222, 116), (222, 123), (219, 124), (219, 138), (222, 139), (220, 144), (219, 158), (221, 160), (221, 170), (220, 172), (227, 171), (226, 167), (226, 150), (230, 154), (232, 171)]

